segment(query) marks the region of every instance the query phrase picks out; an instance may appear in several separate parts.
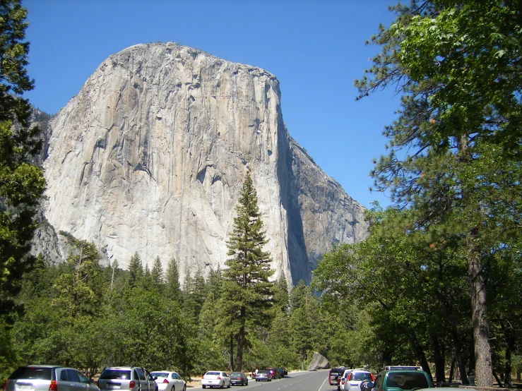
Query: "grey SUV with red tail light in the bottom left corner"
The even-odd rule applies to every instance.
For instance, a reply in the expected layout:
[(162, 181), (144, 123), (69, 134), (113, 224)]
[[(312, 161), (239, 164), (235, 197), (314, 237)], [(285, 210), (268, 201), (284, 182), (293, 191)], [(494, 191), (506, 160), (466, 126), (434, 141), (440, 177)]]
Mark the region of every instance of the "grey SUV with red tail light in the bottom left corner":
[(93, 380), (74, 368), (19, 366), (4, 383), (4, 391), (99, 391)]

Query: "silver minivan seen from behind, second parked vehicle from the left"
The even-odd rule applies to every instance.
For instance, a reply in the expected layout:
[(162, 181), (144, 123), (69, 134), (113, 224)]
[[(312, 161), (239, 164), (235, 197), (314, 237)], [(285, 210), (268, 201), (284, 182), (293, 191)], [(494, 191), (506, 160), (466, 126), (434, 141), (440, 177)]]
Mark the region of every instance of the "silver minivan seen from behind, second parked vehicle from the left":
[(98, 378), (100, 390), (158, 391), (158, 384), (139, 366), (107, 366)]

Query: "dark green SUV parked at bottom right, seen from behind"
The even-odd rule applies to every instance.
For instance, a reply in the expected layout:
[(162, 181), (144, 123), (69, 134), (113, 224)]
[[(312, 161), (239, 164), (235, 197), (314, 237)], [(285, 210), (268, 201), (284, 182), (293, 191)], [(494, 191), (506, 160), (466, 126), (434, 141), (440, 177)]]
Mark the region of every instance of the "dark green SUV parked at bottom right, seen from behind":
[[(371, 383), (368, 384), (368, 387)], [(425, 371), (415, 369), (395, 369), (382, 371), (376, 375), (372, 385), (374, 391), (413, 390), (414, 388), (433, 388), (432, 380)]]

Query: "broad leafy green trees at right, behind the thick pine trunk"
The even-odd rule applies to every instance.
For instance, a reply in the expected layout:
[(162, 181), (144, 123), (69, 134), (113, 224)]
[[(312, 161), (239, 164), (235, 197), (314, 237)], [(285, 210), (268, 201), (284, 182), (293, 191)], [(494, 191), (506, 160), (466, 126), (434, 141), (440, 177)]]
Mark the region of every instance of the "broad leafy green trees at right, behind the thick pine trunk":
[[(416, 363), (438, 382), (468, 384), (475, 351), (465, 247), (459, 235), (434, 241), (441, 227), (415, 230), (413, 213), (369, 211), (369, 238), (326, 253), (314, 287), (324, 290), (325, 308), (353, 306), (369, 315), (369, 359), (381, 366)], [(522, 371), (519, 252), (498, 243), (484, 253), (492, 372), (501, 386)]]

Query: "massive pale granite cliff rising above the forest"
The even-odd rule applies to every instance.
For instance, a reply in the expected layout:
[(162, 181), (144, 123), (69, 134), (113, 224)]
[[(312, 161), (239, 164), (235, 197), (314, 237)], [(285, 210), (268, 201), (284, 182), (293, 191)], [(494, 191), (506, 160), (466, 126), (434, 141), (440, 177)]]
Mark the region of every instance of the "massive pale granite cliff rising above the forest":
[(180, 275), (223, 267), (247, 171), (258, 192), (275, 277), (309, 283), (334, 243), (367, 236), (364, 208), (292, 138), (278, 80), (169, 42), (104, 61), (49, 121), (45, 218), (93, 241), (120, 266), (131, 255)]

